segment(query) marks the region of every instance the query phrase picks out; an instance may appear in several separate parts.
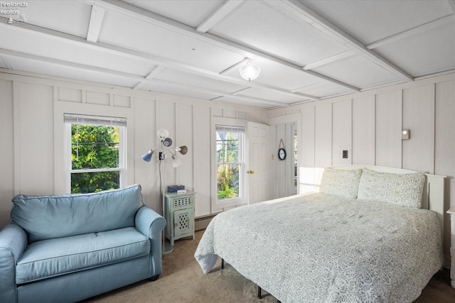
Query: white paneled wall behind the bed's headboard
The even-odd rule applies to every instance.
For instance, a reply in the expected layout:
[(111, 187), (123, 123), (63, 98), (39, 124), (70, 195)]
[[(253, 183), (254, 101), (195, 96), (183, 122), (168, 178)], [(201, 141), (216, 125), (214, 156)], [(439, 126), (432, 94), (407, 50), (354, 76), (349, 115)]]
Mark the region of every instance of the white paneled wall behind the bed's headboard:
[[(455, 74), (291, 107), (301, 114), (301, 190), (314, 178), (311, 167), (352, 161), (445, 175), (445, 208), (455, 205)], [(289, 110), (274, 109), (269, 116)], [(402, 129), (410, 129), (409, 140), (402, 140)], [(350, 145), (352, 153), (343, 159), (341, 150)], [(449, 223), (447, 217), (446, 258)]]

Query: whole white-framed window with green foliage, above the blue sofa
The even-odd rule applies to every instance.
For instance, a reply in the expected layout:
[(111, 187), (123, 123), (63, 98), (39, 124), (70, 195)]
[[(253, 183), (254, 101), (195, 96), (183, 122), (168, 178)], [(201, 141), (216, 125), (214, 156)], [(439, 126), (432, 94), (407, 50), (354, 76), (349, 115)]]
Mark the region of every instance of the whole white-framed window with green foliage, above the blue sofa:
[(126, 126), (124, 118), (65, 114), (67, 192), (124, 187)]

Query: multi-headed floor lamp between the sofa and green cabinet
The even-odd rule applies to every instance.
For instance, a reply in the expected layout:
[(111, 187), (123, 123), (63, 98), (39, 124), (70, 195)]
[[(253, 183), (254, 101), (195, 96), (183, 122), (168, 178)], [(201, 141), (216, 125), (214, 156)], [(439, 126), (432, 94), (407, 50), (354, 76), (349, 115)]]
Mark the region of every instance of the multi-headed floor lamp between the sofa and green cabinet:
[[(157, 131), (157, 135), (159, 136), (159, 140), (161, 142), (161, 146), (158, 148), (152, 148), (147, 153), (142, 155), (142, 159), (146, 162), (150, 162), (151, 156), (155, 153), (156, 150), (159, 151), (159, 181), (160, 181), (160, 193), (161, 193), (161, 212), (162, 216), (164, 216), (164, 208), (165, 208), (165, 198), (164, 198), (164, 170), (165, 170), (165, 162), (166, 162), (166, 153), (170, 153), (172, 156), (172, 165), (173, 167), (178, 167), (181, 165), (180, 160), (177, 158), (177, 152), (181, 153), (182, 155), (186, 155), (188, 152), (188, 148), (185, 145), (177, 148), (171, 148), (172, 139), (168, 138), (169, 132), (166, 129), (159, 129)], [(166, 222), (166, 224), (168, 224)], [(164, 244), (164, 231), (162, 233), (162, 254), (167, 255), (168, 253), (172, 253), (173, 246), (165, 245)]]

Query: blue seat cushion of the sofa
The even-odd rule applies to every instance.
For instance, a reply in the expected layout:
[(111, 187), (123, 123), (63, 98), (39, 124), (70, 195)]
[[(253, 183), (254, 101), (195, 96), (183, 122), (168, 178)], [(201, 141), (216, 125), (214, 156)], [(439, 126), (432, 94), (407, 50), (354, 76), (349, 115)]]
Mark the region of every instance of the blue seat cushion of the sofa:
[(16, 283), (97, 268), (149, 253), (149, 238), (134, 227), (36, 241), (18, 260)]

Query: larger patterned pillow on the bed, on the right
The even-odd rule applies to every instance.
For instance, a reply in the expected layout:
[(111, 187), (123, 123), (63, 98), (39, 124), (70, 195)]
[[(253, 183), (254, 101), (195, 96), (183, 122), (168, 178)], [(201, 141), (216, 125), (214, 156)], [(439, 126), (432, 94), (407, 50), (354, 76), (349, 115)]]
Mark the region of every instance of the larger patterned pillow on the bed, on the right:
[(420, 208), (424, 180), (423, 172), (395, 174), (364, 168), (357, 199)]

